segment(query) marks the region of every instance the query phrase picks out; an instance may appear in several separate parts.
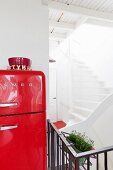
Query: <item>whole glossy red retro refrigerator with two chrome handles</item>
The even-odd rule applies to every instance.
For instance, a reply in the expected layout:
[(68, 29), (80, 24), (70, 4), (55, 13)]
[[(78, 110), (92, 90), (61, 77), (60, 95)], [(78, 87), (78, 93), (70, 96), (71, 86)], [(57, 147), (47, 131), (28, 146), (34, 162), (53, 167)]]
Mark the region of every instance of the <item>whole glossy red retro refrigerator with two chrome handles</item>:
[(0, 169), (46, 170), (45, 76), (0, 71)]

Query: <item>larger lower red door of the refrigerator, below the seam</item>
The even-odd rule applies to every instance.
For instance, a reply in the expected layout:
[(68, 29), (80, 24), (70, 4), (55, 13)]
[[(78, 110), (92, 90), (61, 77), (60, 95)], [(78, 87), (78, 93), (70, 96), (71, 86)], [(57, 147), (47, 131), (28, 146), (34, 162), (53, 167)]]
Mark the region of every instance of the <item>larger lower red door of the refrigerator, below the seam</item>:
[(0, 169), (46, 169), (45, 113), (0, 117)]

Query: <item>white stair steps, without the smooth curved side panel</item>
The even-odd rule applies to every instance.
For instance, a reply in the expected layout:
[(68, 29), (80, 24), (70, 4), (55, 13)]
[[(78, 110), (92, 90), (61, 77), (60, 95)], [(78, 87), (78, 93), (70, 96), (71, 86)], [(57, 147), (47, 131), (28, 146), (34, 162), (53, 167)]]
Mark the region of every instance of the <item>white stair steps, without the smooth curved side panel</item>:
[(83, 62), (73, 58), (71, 65), (72, 108), (67, 126), (71, 120), (72, 124), (86, 120), (112, 93), (112, 89), (106, 88)]

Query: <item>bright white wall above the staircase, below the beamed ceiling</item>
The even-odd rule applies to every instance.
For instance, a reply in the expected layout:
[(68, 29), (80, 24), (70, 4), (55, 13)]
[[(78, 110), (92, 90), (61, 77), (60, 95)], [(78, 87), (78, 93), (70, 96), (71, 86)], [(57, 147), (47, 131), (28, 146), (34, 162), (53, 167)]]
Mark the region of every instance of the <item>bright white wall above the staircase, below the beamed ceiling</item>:
[(71, 36), (71, 52), (113, 87), (113, 28), (84, 24)]

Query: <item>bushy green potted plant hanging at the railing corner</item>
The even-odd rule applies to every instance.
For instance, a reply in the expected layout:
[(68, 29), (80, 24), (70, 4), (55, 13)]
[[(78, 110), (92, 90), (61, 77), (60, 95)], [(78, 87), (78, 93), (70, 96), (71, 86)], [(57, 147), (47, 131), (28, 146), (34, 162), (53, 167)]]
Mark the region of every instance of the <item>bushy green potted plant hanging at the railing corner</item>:
[[(86, 152), (90, 151), (94, 147), (94, 141), (91, 140), (85, 133), (80, 133), (77, 131), (72, 131), (66, 136), (66, 139), (69, 143), (72, 143), (72, 147), (76, 150), (76, 152)], [(79, 165), (83, 166), (86, 158), (80, 158)]]

